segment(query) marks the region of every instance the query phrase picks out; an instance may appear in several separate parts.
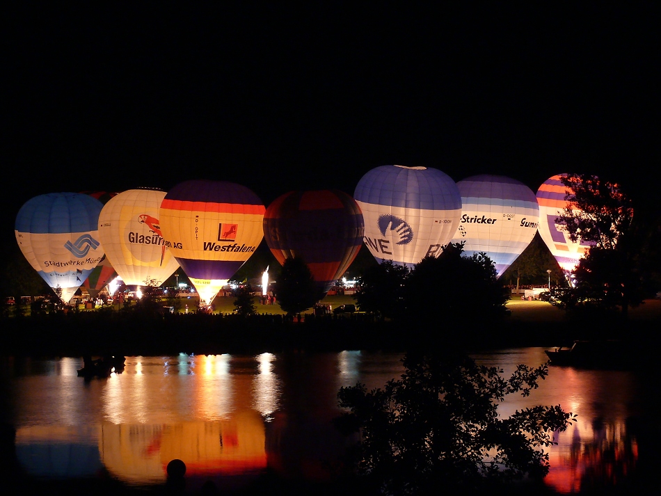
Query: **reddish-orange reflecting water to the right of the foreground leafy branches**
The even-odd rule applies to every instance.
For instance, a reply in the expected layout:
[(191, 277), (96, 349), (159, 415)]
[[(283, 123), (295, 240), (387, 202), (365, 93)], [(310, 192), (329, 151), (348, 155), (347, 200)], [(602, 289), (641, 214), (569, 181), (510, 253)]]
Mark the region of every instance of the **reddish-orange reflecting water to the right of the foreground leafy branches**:
[[(506, 350), (476, 354), (484, 365), (500, 365), (506, 373), (517, 363), (538, 366), (545, 362), (543, 349)], [(550, 471), (545, 483), (558, 493), (610, 488), (630, 477), (638, 459), (637, 439), (628, 420), (644, 415), (637, 398), (637, 376), (630, 371), (575, 369), (551, 366), (549, 376), (530, 397), (511, 396), (500, 406), (500, 415), (534, 405), (561, 405), (578, 415), (578, 422), (555, 433), (558, 444), (547, 450)]]

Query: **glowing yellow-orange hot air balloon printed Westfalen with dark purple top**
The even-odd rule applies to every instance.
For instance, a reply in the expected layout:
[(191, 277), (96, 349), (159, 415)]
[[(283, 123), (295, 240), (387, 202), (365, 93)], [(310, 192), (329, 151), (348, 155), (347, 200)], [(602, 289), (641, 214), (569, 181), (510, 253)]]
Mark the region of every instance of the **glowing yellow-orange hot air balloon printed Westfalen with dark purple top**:
[(177, 184), (161, 203), (168, 247), (210, 305), (262, 241), (262, 200), (240, 184), (191, 180)]

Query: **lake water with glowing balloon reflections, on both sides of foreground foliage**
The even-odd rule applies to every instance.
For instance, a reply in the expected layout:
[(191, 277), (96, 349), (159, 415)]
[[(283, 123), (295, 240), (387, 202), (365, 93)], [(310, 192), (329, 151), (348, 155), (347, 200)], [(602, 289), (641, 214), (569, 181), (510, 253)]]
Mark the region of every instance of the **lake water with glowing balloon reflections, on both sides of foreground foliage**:
[[(546, 361), (543, 348), (474, 353), (505, 373)], [(17, 461), (33, 477), (111, 477), (128, 485), (166, 481), (186, 463), (188, 488), (212, 479), (239, 487), (272, 470), (324, 480), (350, 440), (333, 427), (337, 390), (381, 387), (403, 371), (401, 355), (263, 353), (127, 357), (125, 370), (86, 381), (80, 358), (1, 359), (2, 422), (14, 427)], [(501, 415), (536, 404), (578, 414), (557, 434), (545, 482), (559, 493), (614, 486), (644, 465), (653, 399), (630, 371), (550, 367), (529, 397), (511, 396)], [(644, 399), (648, 398), (648, 401)]]

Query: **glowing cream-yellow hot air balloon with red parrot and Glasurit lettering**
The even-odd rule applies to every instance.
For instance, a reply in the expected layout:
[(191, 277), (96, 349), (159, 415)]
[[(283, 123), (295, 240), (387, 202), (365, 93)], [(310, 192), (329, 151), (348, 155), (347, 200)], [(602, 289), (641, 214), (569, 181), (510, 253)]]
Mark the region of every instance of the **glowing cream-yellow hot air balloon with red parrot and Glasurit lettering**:
[(114, 196), (99, 215), (99, 237), (106, 256), (125, 285), (161, 284), (179, 264), (166, 248), (159, 225), (165, 191), (129, 189)]

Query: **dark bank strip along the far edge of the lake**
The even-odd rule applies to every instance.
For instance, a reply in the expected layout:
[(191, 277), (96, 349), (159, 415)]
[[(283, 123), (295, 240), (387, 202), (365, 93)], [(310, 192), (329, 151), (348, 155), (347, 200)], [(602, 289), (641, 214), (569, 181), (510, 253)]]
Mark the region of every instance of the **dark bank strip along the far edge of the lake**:
[(626, 322), (572, 322), (548, 303), (522, 302), (499, 319), (465, 315), (379, 321), (371, 314), (342, 314), (287, 321), (278, 314), (243, 318), (232, 314), (58, 312), (1, 319), (0, 355), (257, 354), (286, 351), (395, 351), (454, 347), (494, 350), (516, 346), (568, 346), (575, 339), (626, 339), (651, 358), (658, 342), (661, 301), (632, 312)]

